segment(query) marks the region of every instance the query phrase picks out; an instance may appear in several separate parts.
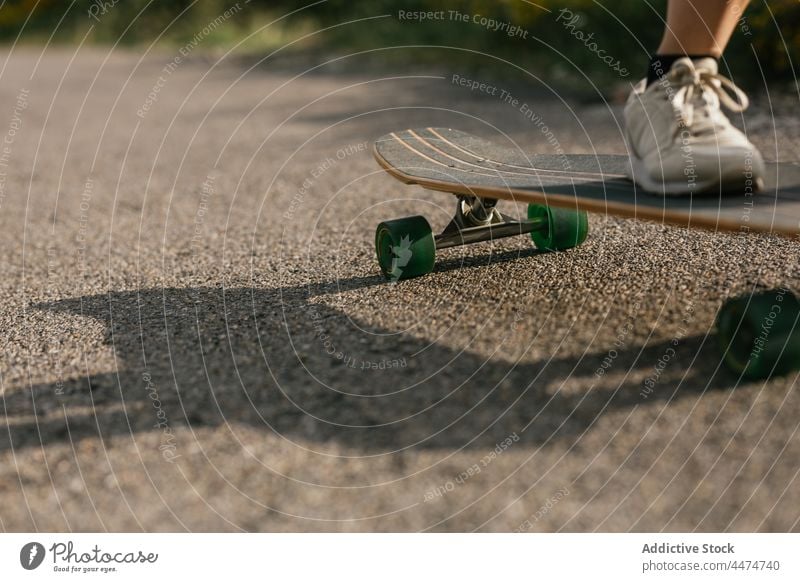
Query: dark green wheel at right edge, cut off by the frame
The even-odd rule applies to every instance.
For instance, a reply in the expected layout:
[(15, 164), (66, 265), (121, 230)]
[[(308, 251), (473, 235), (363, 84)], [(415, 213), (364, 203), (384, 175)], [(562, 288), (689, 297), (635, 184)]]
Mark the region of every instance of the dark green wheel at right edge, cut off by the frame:
[(728, 300), (717, 333), (728, 367), (764, 379), (800, 367), (800, 300), (780, 289)]

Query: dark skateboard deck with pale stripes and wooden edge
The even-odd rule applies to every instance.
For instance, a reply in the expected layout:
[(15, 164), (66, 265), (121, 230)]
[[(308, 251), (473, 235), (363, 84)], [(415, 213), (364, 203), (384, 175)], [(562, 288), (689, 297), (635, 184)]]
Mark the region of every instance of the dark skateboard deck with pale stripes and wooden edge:
[(455, 129), (393, 132), (375, 142), (389, 174), (429, 190), (652, 220), (711, 230), (800, 234), (800, 164), (766, 164), (765, 185), (669, 197), (626, 178), (621, 155), (526, 154)]

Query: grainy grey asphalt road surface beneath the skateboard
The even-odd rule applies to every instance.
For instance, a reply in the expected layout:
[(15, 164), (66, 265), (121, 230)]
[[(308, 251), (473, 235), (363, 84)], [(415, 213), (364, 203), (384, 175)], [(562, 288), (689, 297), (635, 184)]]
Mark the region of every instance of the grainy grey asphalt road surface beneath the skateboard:
[[(376, 224), (452, 201), (372, 141), (552, 153), (541, 127), (454, 71), (173, 59), (0, 55), (0, 529), (800, 530), (798, 377), (740, 380), (713, 331), (798, 287), (796, 242), (594, 215), (390, 285)], [(501, 88), (624, 153), (618, 104)], [(797, 159), (795, 105), (747, 114), (766, 158)]]

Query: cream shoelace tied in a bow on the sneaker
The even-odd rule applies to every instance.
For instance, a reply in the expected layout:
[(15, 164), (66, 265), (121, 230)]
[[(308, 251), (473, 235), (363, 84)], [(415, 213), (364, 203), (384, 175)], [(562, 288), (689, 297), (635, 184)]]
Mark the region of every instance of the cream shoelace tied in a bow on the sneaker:
[(702, 98), (706, 91), (711, 91), (717, 96), (721, 105), (735, 113), (744, 111), (750, 104), (747, 95), (733, 81), (708, 69), (697, 69), (694, 66), (676, 67), (670, 71), (669, 80), (673, 87), (679, 87), (672, 98), (672, 105), (676, 110), (676, 116), (687, 128), (695, 121), (696, 97)]

